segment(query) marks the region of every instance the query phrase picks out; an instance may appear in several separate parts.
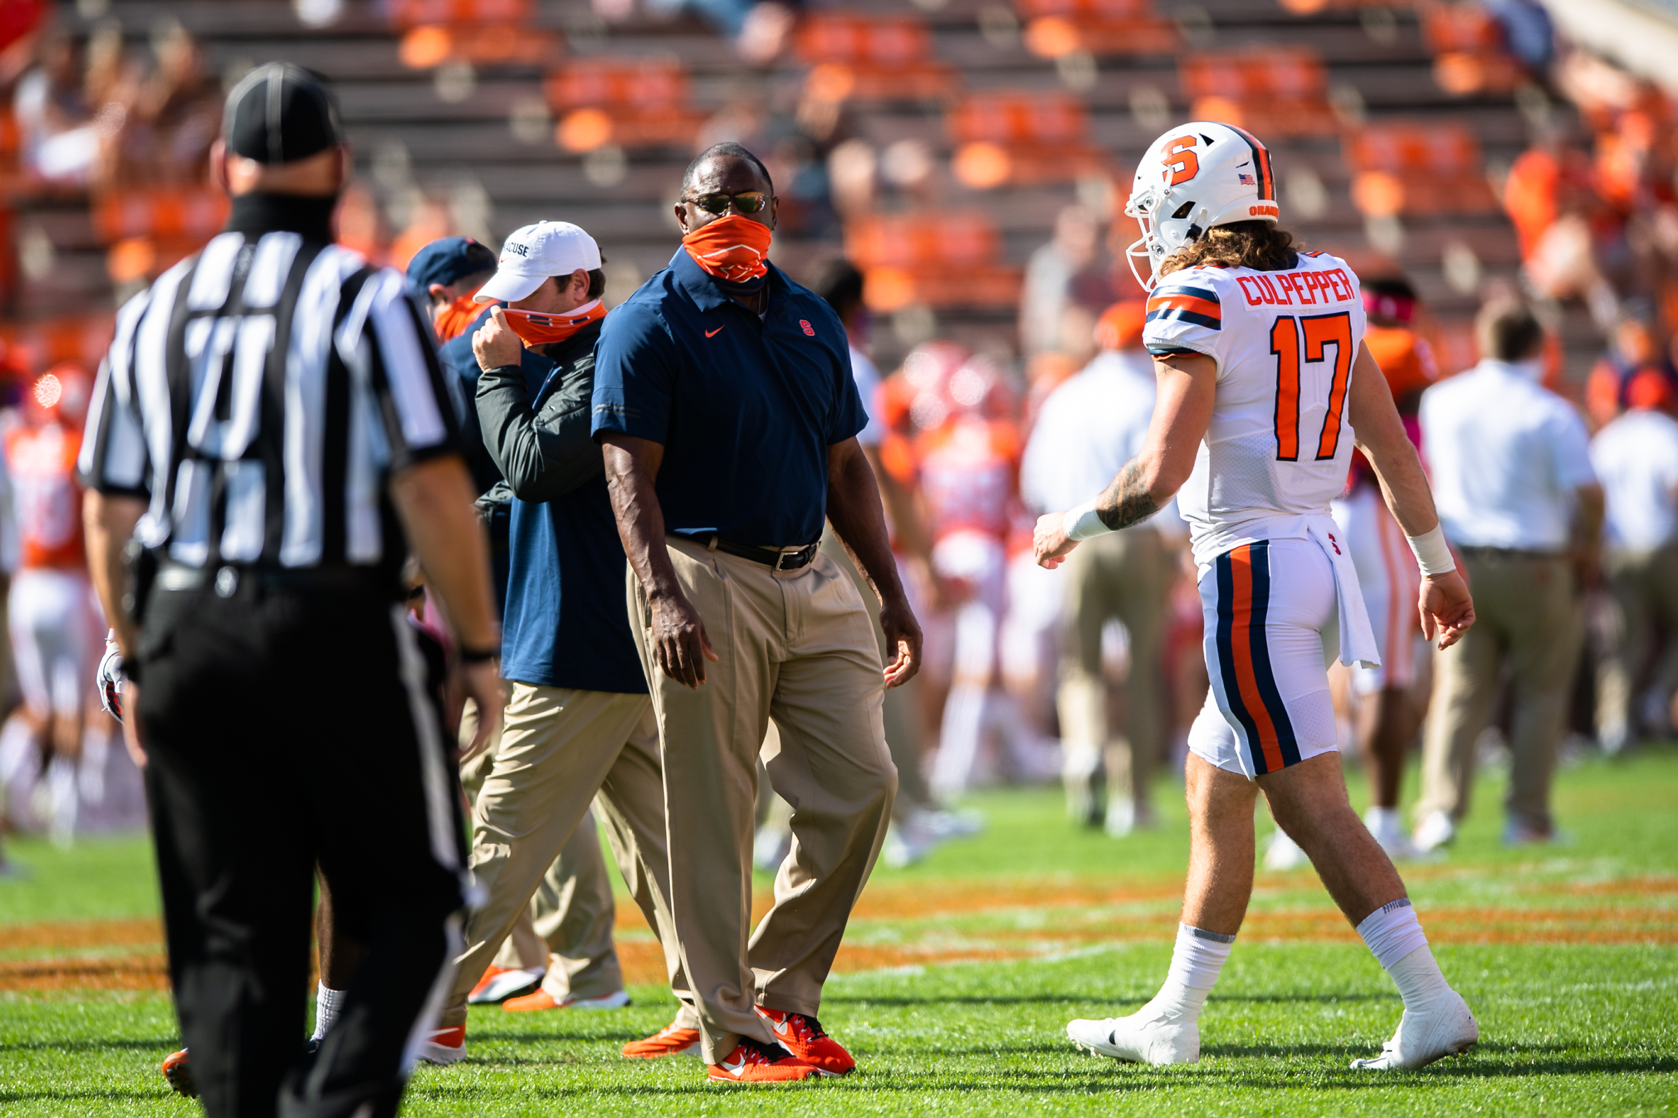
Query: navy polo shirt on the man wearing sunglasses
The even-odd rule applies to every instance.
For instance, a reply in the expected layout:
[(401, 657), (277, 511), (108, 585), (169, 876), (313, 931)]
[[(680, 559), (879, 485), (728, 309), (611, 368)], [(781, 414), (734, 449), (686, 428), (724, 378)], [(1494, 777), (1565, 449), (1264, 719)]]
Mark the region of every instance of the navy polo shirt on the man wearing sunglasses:
[(821, 538), (827, 448), (868, 426), (826, 300), (769, 265), (758, 318), (678, 250), (606, 315), (594, 354), (594, 437), (663, 444), (666, 531), (774, 546)]

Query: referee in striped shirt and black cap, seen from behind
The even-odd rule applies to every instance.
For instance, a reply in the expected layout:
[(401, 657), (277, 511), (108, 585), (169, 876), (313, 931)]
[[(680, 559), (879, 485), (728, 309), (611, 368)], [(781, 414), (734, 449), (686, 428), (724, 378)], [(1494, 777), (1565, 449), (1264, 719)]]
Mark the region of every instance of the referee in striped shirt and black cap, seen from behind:
[[(502, 707), (456, 417), (403, 277), (332, 243), (347, 168), (307, 70), (233, 89), (211, 153), (228, 228), (117, 313), (79, 463), (211, 1116), (394, 1115), (450, 989), (458, 791), (401, 603), (409, 550), (492, 712), (480, 738)], [(317, 862), (366, 954), (309, 1056)]]

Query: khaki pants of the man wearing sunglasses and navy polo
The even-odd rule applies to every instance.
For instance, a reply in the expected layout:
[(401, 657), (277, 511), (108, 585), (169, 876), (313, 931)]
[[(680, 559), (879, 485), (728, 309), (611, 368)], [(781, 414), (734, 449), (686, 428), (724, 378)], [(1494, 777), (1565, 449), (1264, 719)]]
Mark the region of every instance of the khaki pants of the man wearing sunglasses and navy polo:
[[(795, 572), (668, 536), (670, 560), (720, 660), (690, 689), (653, 655), (651, 612), (628, 578), (631, 629), (664, 763), (670, 897), (708, 1063), (742, 1034), (774, 1036), (767, 1006), (814, 1016), (886, 838), (898, 773), (881, 726), (879, 645), (851, 578), (817, 556)], [(774, 719), (780, 746), (763, 736)], [(757, 763), (792, 805), (775, 903), (752, 920)]]

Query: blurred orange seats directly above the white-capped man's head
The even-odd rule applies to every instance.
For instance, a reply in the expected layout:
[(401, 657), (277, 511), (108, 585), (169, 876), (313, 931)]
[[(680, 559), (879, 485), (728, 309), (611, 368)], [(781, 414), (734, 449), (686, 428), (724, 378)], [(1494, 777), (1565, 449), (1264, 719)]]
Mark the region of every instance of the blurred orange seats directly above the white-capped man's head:
[(565, 151), (685, 146), (705, 122), (673, 59), (577, 59), (552, 70), (544, 91)]

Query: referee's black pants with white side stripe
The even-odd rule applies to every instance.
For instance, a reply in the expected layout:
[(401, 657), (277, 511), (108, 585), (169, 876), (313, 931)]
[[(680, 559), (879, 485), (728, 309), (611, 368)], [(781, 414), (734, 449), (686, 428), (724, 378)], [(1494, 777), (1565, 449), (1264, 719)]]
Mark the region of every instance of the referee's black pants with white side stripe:
[[(450, 989), (463, 865), (401, 605), (250, 573), (227, 597), (154, 592), (138, 660), (169, 977), (205, 1111), (394, 1115)], [(315, 862), (366, 954), (309, 1058)]]

